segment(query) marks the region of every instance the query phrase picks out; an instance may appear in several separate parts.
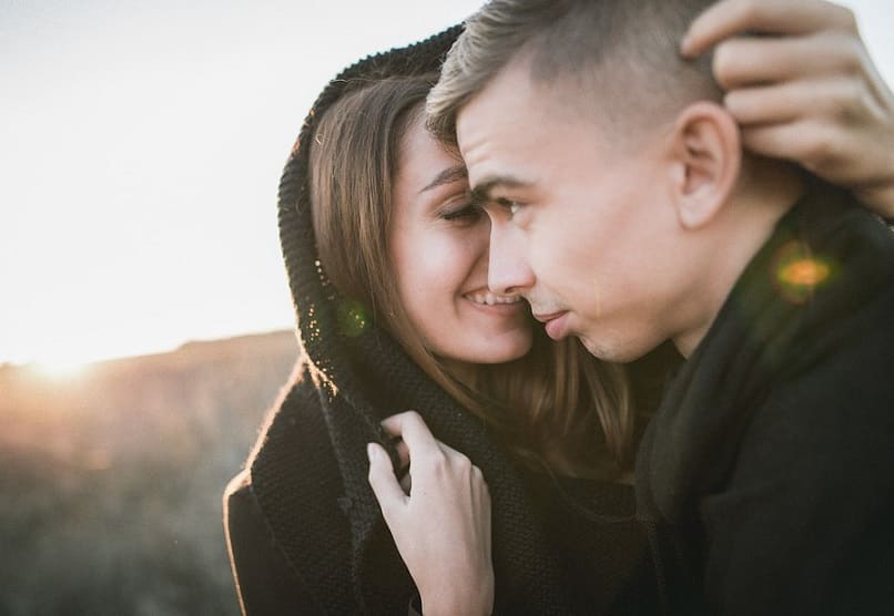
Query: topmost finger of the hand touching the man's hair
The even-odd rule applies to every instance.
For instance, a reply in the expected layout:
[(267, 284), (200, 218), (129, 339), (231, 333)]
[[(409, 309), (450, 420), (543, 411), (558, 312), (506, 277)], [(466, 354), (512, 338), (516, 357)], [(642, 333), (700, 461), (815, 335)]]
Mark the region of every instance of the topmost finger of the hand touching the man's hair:
[(855, 34), (854, 13), (824, 0), (721, 0), (692, 22), (680, 51), (694, 58), (741, 32), (807, 34), (819, 30)]

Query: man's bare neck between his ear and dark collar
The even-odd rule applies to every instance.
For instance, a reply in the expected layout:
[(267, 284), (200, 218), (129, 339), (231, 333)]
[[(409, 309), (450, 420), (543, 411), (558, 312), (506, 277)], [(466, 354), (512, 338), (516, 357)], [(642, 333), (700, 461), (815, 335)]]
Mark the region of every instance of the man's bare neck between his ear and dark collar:
[[(704, 269), (698, 279), (698, 317), (692, 327), (673, 338), (683, 357), (689, 357), (711, 328), (739, 277), (770, 239), (776, 223), (804, 194), (798, 171), (775, 161), (752, 160), (740, 187), (711, 227), (703, 253)], [(721, 257), (722, 258), (719, 258)]]

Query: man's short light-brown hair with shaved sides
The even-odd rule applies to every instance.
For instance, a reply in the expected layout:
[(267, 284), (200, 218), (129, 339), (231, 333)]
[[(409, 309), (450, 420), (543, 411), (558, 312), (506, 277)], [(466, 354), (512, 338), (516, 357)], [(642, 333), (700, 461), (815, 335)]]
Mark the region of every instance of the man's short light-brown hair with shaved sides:
[(619, 135), (661, 123), (692, 101), (719, 100), (710, 58), (679, 53), (690, 22), (713, 2), (492, 0), (447, 55), (428, 95), (428, 126), (455, 145), (459, 110), (522, 54), (535, 82), (582, 86), (569, 104), (598, 113)]

